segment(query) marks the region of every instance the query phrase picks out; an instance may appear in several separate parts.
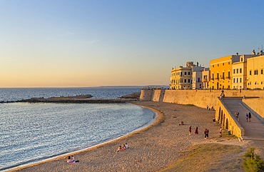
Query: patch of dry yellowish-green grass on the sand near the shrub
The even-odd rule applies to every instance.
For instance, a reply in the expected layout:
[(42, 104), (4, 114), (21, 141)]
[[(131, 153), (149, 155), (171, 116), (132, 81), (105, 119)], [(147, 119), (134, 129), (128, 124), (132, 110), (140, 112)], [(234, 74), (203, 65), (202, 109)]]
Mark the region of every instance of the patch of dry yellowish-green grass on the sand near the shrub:
[(238, 155), (240, 152), (240, 146), (216, 143), (195, 145), (183, 152), (183, 158), (160, 172), (238, 171), (242, 169), (242, 157), (233, 155)]

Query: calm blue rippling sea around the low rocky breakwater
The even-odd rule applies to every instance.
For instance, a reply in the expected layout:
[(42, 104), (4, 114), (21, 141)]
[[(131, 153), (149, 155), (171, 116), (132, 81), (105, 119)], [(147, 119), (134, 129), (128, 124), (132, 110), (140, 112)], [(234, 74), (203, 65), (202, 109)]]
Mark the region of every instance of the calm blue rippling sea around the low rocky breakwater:
[[(140, 91), (139, 86), (0, 88), (0, 101), (82, 94), (120, 98)], [(0, 103), (0, 171), (111, 141), (155, 118), (155, 112), (131, 103)]]

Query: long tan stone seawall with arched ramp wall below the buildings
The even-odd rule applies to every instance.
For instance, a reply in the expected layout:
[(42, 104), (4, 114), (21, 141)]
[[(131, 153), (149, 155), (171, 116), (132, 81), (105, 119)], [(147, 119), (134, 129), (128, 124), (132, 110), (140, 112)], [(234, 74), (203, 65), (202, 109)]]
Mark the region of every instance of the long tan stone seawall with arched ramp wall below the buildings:
[[(231, 112), (226, 108), (225, 103), (219, 98), (221, 90), (142, 90), (141, 101), (158, 101), (166, 103), (193, 104), (201, 108), (215, 109), (215, 120), (224, 129), (240, 138), (245, 135), (244, 128), (235, 120)], [(260, 120), (263, 121), (264, 91), (260, 90), (224, 90), (223, 93), (228, 98), (243, 98), (243, 103), (247, 104), (256, 113), (259, 113)], [(247, 98), (248, 97), (248, 98)], [(258, 97), (258, 98), (253, 98)]]

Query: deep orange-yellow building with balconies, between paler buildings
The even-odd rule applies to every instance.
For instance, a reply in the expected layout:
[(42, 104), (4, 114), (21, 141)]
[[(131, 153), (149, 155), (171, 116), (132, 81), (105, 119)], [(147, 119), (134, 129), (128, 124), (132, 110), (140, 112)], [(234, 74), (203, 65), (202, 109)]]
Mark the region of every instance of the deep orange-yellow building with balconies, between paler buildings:
[(232, 64), (239, 60), (239, 55), (230, 55), (211, 60), (210, 88), (230, 89), (232, 86)]

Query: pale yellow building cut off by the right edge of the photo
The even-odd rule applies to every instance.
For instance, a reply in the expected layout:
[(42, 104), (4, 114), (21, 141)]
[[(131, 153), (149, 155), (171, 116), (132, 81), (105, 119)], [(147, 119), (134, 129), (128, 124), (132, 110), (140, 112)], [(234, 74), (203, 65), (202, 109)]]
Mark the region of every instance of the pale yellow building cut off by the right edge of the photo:
[(247, 62), (247, 88), (264, 89), (264, 56), (256, 56)]

